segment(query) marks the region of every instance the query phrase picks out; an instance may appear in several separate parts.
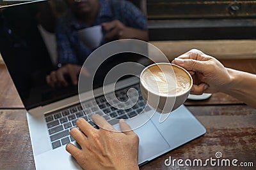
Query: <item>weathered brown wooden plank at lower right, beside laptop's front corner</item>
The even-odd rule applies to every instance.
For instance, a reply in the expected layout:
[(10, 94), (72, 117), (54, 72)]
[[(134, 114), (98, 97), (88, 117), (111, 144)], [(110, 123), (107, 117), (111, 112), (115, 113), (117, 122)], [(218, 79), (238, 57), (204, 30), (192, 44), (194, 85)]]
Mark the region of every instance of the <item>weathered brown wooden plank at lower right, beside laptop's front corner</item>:
[[(221, 167), (166, 167), (164, 160), (173, 159), (216, 159), (221, 152), (223, 159), (253, 162), (256, 166), (256, 110), (248, 106), (188, 106), (188, 109), (207, 129), (206, 134), (161, 157), (145, 164), (145, 169), (218, 169)], [(173, 137), (175, 138), (175, 136)], [(209, 165), (209, 164), (208, 164)], [(222, 169), (234, 167), (222, 167)]]

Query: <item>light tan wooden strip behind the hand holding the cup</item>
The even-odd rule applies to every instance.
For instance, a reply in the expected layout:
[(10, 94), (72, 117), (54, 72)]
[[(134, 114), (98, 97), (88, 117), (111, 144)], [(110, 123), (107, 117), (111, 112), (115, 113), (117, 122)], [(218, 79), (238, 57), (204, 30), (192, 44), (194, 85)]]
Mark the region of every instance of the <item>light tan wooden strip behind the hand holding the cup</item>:
[(256, 40), (150, 41), (170, 60), (196, 48), (217, 59), (256, 59)]

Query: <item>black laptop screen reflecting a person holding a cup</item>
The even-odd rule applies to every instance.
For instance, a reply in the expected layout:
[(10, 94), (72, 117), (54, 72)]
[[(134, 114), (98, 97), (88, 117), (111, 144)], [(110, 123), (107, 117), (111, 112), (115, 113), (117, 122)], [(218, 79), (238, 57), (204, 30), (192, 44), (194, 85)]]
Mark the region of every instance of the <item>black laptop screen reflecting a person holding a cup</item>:
[[(92, 8), (95, 14), (91, 16)], [(145, 40), (146, 22), (140, 6), (123, 0), (52, 0), (11, 6), (0, 10), (0, 52), (29, 110), (76, 95), (74, 81), (86, 57), (98, 46), (125, 37), (116, 25), (143, 31), (144, 37), (134, 33), (134, 38)], [(92, 27), (93, 33), (88, 31)], [(100, 65), (93, 88), (102, 86), (116, 64), (137, 62), (141, 57), (113, 55)]]

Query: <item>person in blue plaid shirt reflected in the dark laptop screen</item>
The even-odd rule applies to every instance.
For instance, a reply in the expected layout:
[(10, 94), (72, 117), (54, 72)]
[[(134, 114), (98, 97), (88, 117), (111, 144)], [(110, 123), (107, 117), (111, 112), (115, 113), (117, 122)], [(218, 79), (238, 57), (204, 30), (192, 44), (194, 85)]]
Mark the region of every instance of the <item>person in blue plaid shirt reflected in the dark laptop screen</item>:
[[(77, 30), (101, 25), (104, 39), (101, 45), (116, 39), (147, 41), (146, 18), (132, 3), (125, 0), (66, 0), (70, 10), (56, 27), (58, 69), (46, 78), (51, 87), (67, 86), (67, 76), (77, 85), (77, 75), (90, 49), (79, 40)], [(88, 74), (88, 73), (86, 73)]]

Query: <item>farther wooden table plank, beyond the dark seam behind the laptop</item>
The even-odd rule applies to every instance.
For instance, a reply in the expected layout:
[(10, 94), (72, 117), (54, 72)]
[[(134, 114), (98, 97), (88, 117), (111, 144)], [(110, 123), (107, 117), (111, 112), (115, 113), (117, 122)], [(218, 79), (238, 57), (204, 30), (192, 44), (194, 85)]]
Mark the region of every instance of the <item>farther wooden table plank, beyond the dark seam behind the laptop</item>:
[[(256, 74), (256, 59), (221, 59), (224, 66)], [(205, 101), (186, 101), (186, 105), (198, 104), (242, 104), (226, 94), (213, 94)], [(12, 79), (4, 64), (0, 64), (0, 108), (24, 108)]]

